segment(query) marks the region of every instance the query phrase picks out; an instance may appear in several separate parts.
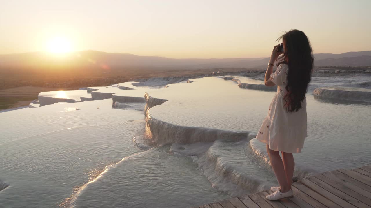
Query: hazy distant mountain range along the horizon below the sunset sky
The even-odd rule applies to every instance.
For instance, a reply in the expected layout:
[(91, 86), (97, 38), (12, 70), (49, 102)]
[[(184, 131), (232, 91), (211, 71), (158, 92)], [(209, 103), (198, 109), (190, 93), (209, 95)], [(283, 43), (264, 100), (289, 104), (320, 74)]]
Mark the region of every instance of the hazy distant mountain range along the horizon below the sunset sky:
[[(365, 66), (371, 65), (371, 51), (342, 54), (314, 54), (315, 66)], [(1, 54), (0, 70), (6, 68), (120, 68), (120, 67), (181, 67), (226, 68), (265, 67), (269, 58), (164, 58), (158, 56), (136, 56), (128, 53), (106, 53), (101, 51), (78, 51), (64, 57), (42, 52)]]

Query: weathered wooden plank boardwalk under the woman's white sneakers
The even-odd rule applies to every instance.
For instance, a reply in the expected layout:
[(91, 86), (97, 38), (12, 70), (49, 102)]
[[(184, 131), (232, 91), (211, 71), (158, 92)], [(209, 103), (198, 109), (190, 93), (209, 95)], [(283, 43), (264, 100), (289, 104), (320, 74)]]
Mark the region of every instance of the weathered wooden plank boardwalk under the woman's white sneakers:
[(202, 205), (198, 208), (371, 208), (371, 165), (340, 169), (299, 179), (294, 197), (269, 201), (262, 191)]

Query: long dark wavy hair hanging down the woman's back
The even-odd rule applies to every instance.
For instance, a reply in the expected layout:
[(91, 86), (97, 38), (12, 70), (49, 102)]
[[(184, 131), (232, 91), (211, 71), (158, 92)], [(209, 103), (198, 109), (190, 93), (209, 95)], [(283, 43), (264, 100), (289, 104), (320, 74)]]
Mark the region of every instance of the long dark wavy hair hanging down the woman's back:
[(287, 73), (285, 107), (288, 112), (298, 111), (302, 108), (308, 90), (313, 70), (312, 47), (308, 37), (300, 30), (290, 30), (277, 40), (285, 41), (285, 53), (280, 57), (280, 63), (289, 67)]

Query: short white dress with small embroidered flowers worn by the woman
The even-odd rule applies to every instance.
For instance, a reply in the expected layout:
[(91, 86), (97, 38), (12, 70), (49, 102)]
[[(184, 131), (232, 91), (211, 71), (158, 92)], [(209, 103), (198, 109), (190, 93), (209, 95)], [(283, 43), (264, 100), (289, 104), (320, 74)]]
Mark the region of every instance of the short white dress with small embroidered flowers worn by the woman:
[(257, 140), (269, 145), (269, 149), (283, 152), (301, 152), (307, 137), (306, 99), (302, 108), (292, 113), (285, 105), (285, 87), (287, 83), (287, 64), (280, 64), (270, 78), (277, 87), (277, 94), (269, 105), (267, 117), (256, 136)]

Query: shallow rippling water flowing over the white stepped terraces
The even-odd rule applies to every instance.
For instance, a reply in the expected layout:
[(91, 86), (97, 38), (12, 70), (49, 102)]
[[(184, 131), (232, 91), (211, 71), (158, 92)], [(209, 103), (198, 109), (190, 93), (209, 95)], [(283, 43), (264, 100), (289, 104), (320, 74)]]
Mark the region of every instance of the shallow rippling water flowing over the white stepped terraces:
[[(313, 85), (326, 86), (328, 79), (315, 78)], [(217, 77), (193, 81), (95, 91), (97, 98), (148, 93), (165, 99), (156, 106), (147, 100), (147, 131), (156, 140), (144, 137), (143, 103), (116, 105), (109, 98), (0, 113), (0, 187), (6, 187), (0, 207), (185, 208), (276, 185), (265, 145), (254, 139), (275, 92)], [(307, 103), (309, 136), (295, 154), (295, 175), (371, 163), (370, 103), (311, 92)], [(177, 144), (175, 130), (186, 134), (186, 144)]]

